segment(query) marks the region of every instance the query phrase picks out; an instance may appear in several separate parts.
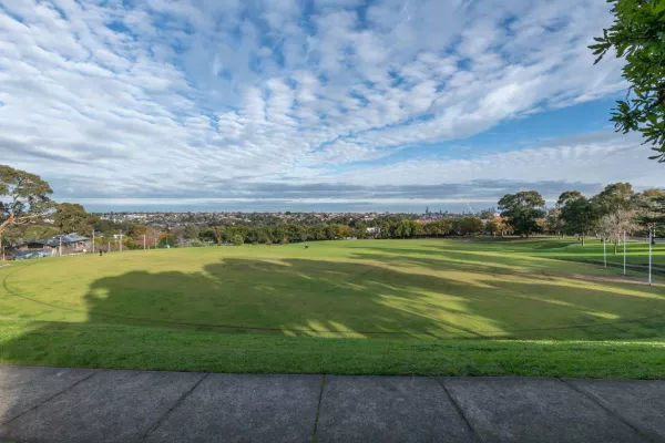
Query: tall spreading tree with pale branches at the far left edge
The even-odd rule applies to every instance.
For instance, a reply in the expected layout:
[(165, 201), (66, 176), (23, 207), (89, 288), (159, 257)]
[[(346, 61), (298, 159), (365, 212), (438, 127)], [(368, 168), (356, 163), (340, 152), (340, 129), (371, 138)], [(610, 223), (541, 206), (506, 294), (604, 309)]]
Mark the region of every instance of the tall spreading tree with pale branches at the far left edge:
[(9, 226), (41, 218), (52, 208), (51, 194), (39, 175), (0, 165), (0, 237)]

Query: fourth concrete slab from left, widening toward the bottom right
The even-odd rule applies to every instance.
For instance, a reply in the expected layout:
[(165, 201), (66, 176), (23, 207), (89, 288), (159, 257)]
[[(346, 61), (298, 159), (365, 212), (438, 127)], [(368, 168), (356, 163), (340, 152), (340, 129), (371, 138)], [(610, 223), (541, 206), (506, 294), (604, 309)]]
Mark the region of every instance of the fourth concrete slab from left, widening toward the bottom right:
[(473, 435), (434, 379), (326, 377), (316, 441), (473, 442)]

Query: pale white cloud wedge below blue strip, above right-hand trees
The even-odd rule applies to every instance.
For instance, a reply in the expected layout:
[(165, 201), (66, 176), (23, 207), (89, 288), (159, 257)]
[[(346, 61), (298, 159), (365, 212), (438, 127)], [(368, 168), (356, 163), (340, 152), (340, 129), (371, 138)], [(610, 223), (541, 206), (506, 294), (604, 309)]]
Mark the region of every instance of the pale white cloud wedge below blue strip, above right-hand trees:
[(538, 182), (596, 184), (621, 179), (640, 187), (658, 185), (662, 165), (644, 161), (644, 146), (636, 136), (595, 133), (583, 137), (553, 140), (540, 146), (468, 158), (405, 161), (356, 169), (328, 179), (375, 185), (510, 181), (524, 183), (524, 186)]

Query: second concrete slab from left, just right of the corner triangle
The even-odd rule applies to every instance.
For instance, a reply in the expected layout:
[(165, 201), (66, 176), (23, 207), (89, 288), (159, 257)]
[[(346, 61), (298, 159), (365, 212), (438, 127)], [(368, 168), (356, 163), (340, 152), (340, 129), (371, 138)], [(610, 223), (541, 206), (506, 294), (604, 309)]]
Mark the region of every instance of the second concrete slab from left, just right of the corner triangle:
[(29, 442), (137, 441), (204, 374), (103, 371), (0, 425), (0, 439)]

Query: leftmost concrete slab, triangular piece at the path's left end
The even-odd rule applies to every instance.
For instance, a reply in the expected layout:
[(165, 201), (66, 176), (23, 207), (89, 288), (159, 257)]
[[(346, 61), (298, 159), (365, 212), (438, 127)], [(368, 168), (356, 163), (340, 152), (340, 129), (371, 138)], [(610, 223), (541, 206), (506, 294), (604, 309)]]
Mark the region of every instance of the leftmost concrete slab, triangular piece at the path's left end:
[(0, 367), (0, 423), (95, 373), (94, 369)]

